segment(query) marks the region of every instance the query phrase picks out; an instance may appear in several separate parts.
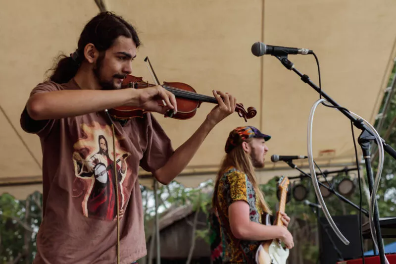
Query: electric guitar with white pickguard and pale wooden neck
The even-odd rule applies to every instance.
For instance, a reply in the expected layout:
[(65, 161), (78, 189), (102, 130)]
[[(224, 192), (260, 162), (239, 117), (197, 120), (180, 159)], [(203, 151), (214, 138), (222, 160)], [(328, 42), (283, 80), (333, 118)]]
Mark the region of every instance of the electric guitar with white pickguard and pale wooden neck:
[[(288, 193), (289, 179), (282, 176), (279, 179), (281, 198), (279, 201), (279, 211), (276, 215), (275, 225), (283, 226), (281, 212), (285, 212), (286, 195)], [(278, 239), (269, 240), (262, 243), (256, 252), (256, 264), (286, 264), (289, 257), (289, 249), (282, 247)]]

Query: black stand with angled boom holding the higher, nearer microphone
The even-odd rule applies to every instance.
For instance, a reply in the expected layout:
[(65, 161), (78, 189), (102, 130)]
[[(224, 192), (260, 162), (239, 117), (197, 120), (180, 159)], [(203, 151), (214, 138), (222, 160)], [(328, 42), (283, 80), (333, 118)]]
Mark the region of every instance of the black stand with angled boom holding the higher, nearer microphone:
[[(302, 74), (299, 72), (295, 66), (294, 63), (291, 62), (288, 59), (287, 54), (285, 55), (274, 55), (279, 61), (282, 63), (283, 66), (285, 66), (288, 70), (293, 70), (299, 77), (301, 77), (301, 80), (304, 83), (307, 83), (310, 87), (312, 87), (316, 92), (321, 94), (330, 104), (333, 106), (339, 106), (330, 96), (328, 96), (325, 92), (321, 91), (321, 89), (315, 85), (310, 79), (309, 76), (306, 74)], [(371, 130), (362, 122), (362, 120), (355, 118), (352, 116), (347, 110), (338, 108), (340, 112), (342, 112), (349, 120), (352, 121), (353, 125), (360, 129), (362, 131), (362, 134), (360, 135), (359, 139), (362, 138), (362, 140), (359, 140), (359, 144), (362, 147), (363, 153), (364, 153), (364, 162), (366, 163), (366, 172), (367, 172), (367, 178), (369, 183), (373, 183), (373, 178), (371, 174), (371, 163), (370, 163), (370, 155), (368, 151), (368, 147), (366, 149), (365, 144), (368, 145), (367, 142), (372, 141), (373, 139), (371, 137), (375, 137), (375, 135), (371, 132)], [(369, 137), (371, 136), (371, 137)], [(386, 151), (389, 155), (391, 155), (393, 158), (396, 159), (396, 151), (388, 144), (385, 143), (385, 140), (381, 138), (382, 145), (384, 146), (384, 151)], [(377, 141), (374, 140), (374, 143), (377, 144)], [(368, 155), (366, 155), (368, 154)], [(366, 158), (367, 157), (367, 158)], [(370, 188), (370, 194), (372, 194), (372, 190)], [(386, 264), (385, 262), (385, 253), (384, 253), (384, 245), (382, 243), (382, 235), (381, 235), (381, 229), (380, 229), (380, 221), (379, 221), (379, 216), (378, 216), (378, 207), (377, 207), (377, 202), (375, 201), (375, 207), (374, 207), (374, 225), (377, 233), (377, 244), (378, 244), (378, 251), (380, 255), (380, 260), (381, 264)]]

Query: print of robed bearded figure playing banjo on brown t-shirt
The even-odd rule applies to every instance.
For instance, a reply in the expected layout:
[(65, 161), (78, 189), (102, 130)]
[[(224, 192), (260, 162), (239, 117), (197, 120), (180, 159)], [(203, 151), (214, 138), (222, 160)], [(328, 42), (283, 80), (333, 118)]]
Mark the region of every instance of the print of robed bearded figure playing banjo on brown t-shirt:
[(131, 174), (125, 159), (130, 154), (121, 149), (118, 139), (115, 138), (116, 162), (114, 162), (112, 131), (108, 125), (94, 122), (93, 126), (83, 124), (82, 129), (85, 132), (84, 138), (74, 144), (73, 162), (76, 178), (73, 182), (73, 197), (84, 196), (81, 207), (85, 216), (113, 220), (117, 215), (117, 184), (120, 217), (122, 217), (124, 205), (122, 183)]

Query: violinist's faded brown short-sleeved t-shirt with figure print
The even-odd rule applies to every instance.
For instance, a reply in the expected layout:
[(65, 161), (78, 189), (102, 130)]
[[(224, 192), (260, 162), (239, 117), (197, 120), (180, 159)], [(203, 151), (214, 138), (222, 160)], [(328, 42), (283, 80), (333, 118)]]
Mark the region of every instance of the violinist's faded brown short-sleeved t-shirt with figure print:
[[(79, 89), (73, 79), (62, 85), (47, 81), (34, 88), (31, 96)], [(35, 121), (26, 108), (23, 111), (22, 128), (40, 137), (43, 150), (43, 221), (34, 264), (115, 263), (115, 184), (119, 192), (120, 263), (130, 264), (146, 255), (139, 166), (155, 171), (173, 149), (149, 113), (124, 126), (114, 121), (115, 148), (110, 124), (103, 112)]]

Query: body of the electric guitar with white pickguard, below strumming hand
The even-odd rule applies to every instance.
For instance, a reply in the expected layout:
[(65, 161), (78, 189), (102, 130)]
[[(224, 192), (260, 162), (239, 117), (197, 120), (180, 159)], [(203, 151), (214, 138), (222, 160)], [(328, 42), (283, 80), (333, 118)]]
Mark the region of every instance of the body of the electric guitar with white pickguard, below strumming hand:
[(286, 264), (289, 249), (285, 249), (276, 241), (263, 243), (256, 253), (256, 264)]

